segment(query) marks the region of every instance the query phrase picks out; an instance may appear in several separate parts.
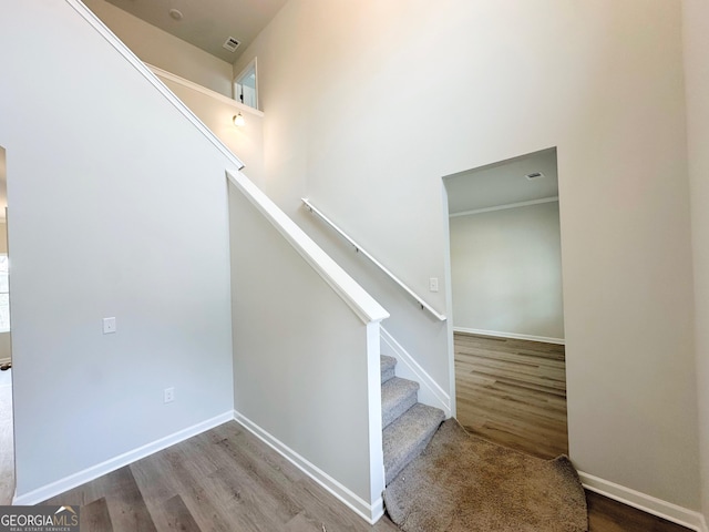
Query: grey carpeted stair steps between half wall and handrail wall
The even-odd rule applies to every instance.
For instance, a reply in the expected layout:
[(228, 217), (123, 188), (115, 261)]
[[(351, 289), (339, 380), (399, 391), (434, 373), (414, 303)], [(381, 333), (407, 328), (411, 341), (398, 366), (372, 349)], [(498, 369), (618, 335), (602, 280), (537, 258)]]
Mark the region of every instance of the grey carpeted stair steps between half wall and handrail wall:
[(419, 383), (395, 376), (397, 359), (381, 357), (381, 417), (386, 484), (429, 444), (443, 410), (418, 401)]

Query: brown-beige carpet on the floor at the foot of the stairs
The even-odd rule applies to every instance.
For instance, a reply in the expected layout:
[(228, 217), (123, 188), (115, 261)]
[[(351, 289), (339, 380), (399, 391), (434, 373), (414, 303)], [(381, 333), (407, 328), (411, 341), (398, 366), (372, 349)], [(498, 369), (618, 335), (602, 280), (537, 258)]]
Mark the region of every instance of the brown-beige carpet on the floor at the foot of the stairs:
[(428, 449), (387, 487), (405, 532), (585, 532), (586, 495), (566, 457), (541, 460), (445, 421)]

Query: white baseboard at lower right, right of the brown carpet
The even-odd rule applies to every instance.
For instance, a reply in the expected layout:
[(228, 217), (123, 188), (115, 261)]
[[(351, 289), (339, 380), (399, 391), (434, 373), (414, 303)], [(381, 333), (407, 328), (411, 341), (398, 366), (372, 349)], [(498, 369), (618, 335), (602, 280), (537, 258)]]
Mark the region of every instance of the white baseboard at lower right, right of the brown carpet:
[(593, 474), (578, 472), (582, 484), (589, 491), (594, 491), (598, 494), (613, 499), (614, 501), (621, 502), (644, 512), (657, 515), (672, 523), (677, 523), (681, 526), (686, 526), (698, 532), (709, 532), (707, 530), (707, 522), (705, 516), (687, 508), (679, 507), (675, 503), (662, 501), (653, 495), (640, 493), (639, 491), (626, 488), (609, 480), (604, 480)]

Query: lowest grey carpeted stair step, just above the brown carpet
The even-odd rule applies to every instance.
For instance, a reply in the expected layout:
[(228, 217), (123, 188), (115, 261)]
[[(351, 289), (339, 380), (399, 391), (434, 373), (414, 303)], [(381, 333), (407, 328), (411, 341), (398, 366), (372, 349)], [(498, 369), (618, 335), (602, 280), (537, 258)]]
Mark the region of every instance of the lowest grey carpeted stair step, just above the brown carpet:
[(384, 429), (387, 484), (425, 449), (443, 419), (443, 410), (418, 402)]

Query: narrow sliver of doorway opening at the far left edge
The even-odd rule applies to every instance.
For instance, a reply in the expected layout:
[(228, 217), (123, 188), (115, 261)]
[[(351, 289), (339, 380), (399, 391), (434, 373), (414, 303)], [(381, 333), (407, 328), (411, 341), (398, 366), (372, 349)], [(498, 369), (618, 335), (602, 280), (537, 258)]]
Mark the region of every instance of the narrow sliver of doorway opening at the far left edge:
[(14, 494), (7, 197), (6, 150), (0, 146), (0, 504), (11, 504)]

